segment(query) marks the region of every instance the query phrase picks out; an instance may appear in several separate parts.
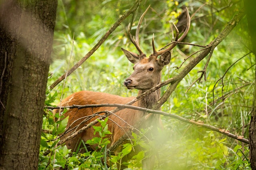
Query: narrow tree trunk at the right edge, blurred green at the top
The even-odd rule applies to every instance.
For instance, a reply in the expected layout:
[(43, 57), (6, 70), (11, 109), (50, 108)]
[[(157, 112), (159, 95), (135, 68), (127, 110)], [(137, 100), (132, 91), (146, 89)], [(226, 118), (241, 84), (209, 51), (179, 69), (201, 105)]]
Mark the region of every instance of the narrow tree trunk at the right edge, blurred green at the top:
[[(254, 8), (256, 6), (255, 0), (245, 0), (244, 6), (246, 8), (248, 33), (250, 35), (251, 50), (256, 56), (256, 18)], [(252, 170), (256, 169), (256, 75), (254, 80), (254, 96), (252, 103), (252, 116), (249, 127), (249, 142), (250, 142), (250, 163)]]

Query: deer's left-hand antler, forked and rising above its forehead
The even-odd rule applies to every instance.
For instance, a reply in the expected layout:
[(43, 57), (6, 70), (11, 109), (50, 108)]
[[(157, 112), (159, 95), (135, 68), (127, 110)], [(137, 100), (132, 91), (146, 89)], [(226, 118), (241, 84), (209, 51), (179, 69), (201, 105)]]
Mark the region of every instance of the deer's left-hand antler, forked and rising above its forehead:
[(130, 41), (135, 45), (136, 49), (138, 50), (138, 52), (140, 54), (144, 54), (142, 52), (142, 50), (140, 49), (140, 45), (139, 45), (139, 33), (140, 33), (140, 26), (141, 26), (141, 23), (142, 23), (142, 20), (144, 18), (144, 15), (146, 14), (146, 12), (148, 11), (150, 5), (148, 6), (148, 8), (146, 9), (146, 11), (142, 14), (142, 16), (140, 17), (140, 20), (138, 22), (138, 26), (137, 26), (137, 29), (136, 29), (136, 34), (135, 34), (135, 39), (134, 39), (134, 36), (132, 37), (132, 34), (130, 33), (131, 31), (131, 24), (129, 23), (128, 25), (128, 34), (130, 36)]

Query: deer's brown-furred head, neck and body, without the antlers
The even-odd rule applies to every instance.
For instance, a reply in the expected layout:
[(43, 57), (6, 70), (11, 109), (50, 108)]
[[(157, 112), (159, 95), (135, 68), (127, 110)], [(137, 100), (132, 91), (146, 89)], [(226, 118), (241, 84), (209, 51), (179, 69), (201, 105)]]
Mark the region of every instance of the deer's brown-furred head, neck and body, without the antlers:
[[(138, 95), (140, 95), (141, 93), (144, 93), (148, 89), (160, 83), (161, 70), (164, 67), (164, 65), (170, 62), (171, 56), (169, 51), (161, 55), (160, 59), (157, 59), (155, 56), (150, 56), (149, 58), (141, 57), (141, 56), (139, 57), (139, 55), (137, 55), (136, 53), (126, 51), (125, 49), (122, 49), (122, 50), (124, 51), (129, 61), (131, 61), (132, 63), (135, 63), (134, 72), (130, 75), (130, 77), (126, 79), (126, 81), (124, 81), (124, 85), (126, 85), (128, 89), (134, 89), (134, 88), (139, 89), (140, 91)], [(110, 95), (107, 93), (80, 91), (64, 99), (62, 101), (62, 106), (90, 105), (90, 104), (102, 104), (102, 103), (126, 104), (132, 99), (134, 99), (134, 97), (120, 97), (117, 95)], [(153, 93), (150, 93), (149, 95), (140, 99), (133, 105), (151, 109), (154, 103), (158, 101), (158, 99), (160, 99), (160, 89), (154, 91)], [(65, 113), (65, 117), (69, 116), (69, 119), (68, 119), (68, 127), (69, 127), (77, 119), (80, 119), (82, 117), (88, 117), (99, 111), (106, 111), (106, 110), (111, 111), (112, 109), (114, 108), (113, 107), (97, 107), (97, 108), (85, 108), (85, 109), (79, 109), (79, 110), (70, 109)], [(109, 146), (114, 144), (125, 133), (125, 131), (128, 131), (131, 128), (129, 125), (134, 125), (136, 121), (138, 121), (144, 115), (145, 115), (144, 112), (136, 111), (132, 109), (123, 109), (115, 113), (115, 115), (110, 115), (109, 116), (110, 120), (108, 121), (108, 130), (110, 130), (112, 134), (108, 136), (110, 140)], [(83, 126), (87, 125), (88, 123), (94, 120), (95, 118), (86, 122)], [(71, 126), (71, 128), (78, 125), (81, 121), (82, 119), (74, 123)], [(147, 119), (147, 121), (143, 123), (142, 127), (144, 128), (150, 127), (151, 125), (153, 125), (155, 128), (161, 126), (161, 120), (159, 115), (153, 115), (152, 117)], [(83, 126), (80, 126), (79, 128)], [(65, 138), (65, 136), (68, 136), (70, 133), (71, 132), (65, 134), (61, 138)], [(68, 146), (69, 149), (75, 150), (78, 144), (78, 141), (80, 139), (86, 142), (86, 140), (92, 139), (93, 137), (94, 137), (94, 129), (89, 128), (88, 130), (80, 133), (75, 138), (72, 138), (66, 141), (66, 145)], [(95, 146), (90, 146), (90, 147), (93, 150), (96, 149)], [(144, 161), (142, 162), (143, 169), (151, 170), (154, 167), (153, 158), (154, 156), (144, 159)], [(125, 166), (121, 165), (120, 169), (121, 168), (125, 168)]]

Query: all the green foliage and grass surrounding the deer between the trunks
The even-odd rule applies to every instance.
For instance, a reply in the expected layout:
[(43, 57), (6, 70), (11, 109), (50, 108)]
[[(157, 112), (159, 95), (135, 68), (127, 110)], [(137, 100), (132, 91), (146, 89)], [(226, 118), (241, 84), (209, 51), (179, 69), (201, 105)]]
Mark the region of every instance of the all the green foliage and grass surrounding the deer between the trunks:
[[(134, 1), (60, 1), (54, 32), (53, 60), (50, 65), (52, 74), (49, 76), (48, 85), (51, 85), (77, 63), (105, 34), (119, 15), (130, 8), (132, 2)], [(150, 44), (152, 33), (154, 33), (157, 49), (173, 40), (172, 37), (175, 34), (170, 34), (171, 22), (178, 22), (177, 18), (182, 12), (182, 6), (188, 6), (190, 15), (194, 15), (190, 32), (184, 42), (200, 45), (207, 45), (218, 36), (226, 23), (243, 6), (242, 2), (235, 0), (207, 0), (204, 2), (168, 0), (161, 3), (157, 0), (148, 0), (145, 3), (145, 6), (151, 4), (153, 9), (146, 14), (140, 31), (140, 46), (147, 54), (152, 52)], [(87, 6), (86, 10), (84, 6)], [(138, 23), (138, 18), (144, 9), (145, 7), (140, 6), (134, 15), (135, 24)], [(128, 62), (120, 47), (136, 52), (125, 32), (129, 22), (130, 18), (125, 20), (81, 67), (67, 77), (64, 86), (62, 82), (54, 90), (48, 91), (46, 105), (57, 105), (60, 99), (81, 90), (101, 91), (124, 97), (136, 96), (138, 91), (129, 91), (122, 85), (124, 79), (132, 73), (132, 64)], [(246, 22), (242, 20), (230, 35), (214, 49), (206, 72), (207, 81), (192, 85), (200, 77), (200, 73), (197, 71), (204, 68), (206, 63), (206, 59), (204, 59), (180, 82), (170, 99), (162, 106), (162, 111), (174, 113), (186, 119), (203, 121), (248, 138), (254, 91), (255, 69), (251, 67), (255, 63), (254, 56), (247, 55), (230, 67), (248, 53), (246, 48), (248, 33), (244, 28), (246, 28)], [(134, 31), (133, 27), (132, 33)], [(74, 44), (73, 33), (75, 35)], [(73, 50), (72, 46), (74, 46)], [(190, 57), (180, 70), (173, 69), (184, 61), (186, 57), (184, 54), (188, 56), (199, 49), (201, 48), (189, 45), (175, 47), (170, 64), (162, 71), (162, 81), (177, 75), (195, 57)], [(69, 60), (70, 66), (68, 67)], [(224, 74), (223, 81), (220, 80), (217, 83), (217, 80)], [(186, 92), (190, 85), (192, 87)], [(162, 93), (167, 88), (163, 87)], [(80, 143), (81, 147), (85, 147), (86, 143), (97, 144), (97, 151), (87, 151), (83, 154), (71, 153), (65, 146), (55, 147), (58, 140), (53, 140), (56, 138), (56, 134), (63, 132), (66, 120), (60, 117), (60, 121), (55, 122), (54, 119), (58, 119), (58, 115), (54, 116), (48, 111), (46, 113), (43, 129), (53, 131), (54, 134), (42, 133), (40, 169), (63, 167), (65, 164), (70, 169), (106, 168), (106, 164), (102, 161), (104, 158), (102, 153), (106, 153), (106, 146), (109, 143), (106, 138), (109, 131), (107, 124), (104, 124), (105, 121), (100, 122), (100, 127), (93, 127), (95, 134), (98, 134), (99, 137)], [(247, 144), (169, 117), (162, 117), (162, 122), (165, 130), (160, 130), (163, 137), (156, 144), (159, 154), (156, 169), (167, 170), (170, 169), (169, 167), (172, 167), (173, 170), (250, 169)], [(150, 149), (150, 145), (142, 138), (143, 134), (144, 132), (142, 135), (133, 134), (133, 144), (125, 144), (124, 149), (118, 155), (110, 156), (110, 162), (115, 164), (120, 161), (129, 152), (133, 152), (133, 148), (138, 145), (143, 146), (145, 150)], [(43, 153), (48, 149), (51, 150), (50, 154), (44, 156)], [(140, 169), (144, 156), (145, 151), (139, 151), (132, 157), (132, 160), (126, 163), (129, 168)], [(114, 168), (115, 165), (112, 166), (112, 169)]]

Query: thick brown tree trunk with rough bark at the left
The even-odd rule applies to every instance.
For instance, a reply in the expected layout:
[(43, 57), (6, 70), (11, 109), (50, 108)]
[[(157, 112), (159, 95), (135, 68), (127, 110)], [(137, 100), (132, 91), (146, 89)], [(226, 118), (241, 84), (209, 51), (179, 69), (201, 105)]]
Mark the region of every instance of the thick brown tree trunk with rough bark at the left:
[(0, 4), (0, 169), (38, 169), (57, 3)]

